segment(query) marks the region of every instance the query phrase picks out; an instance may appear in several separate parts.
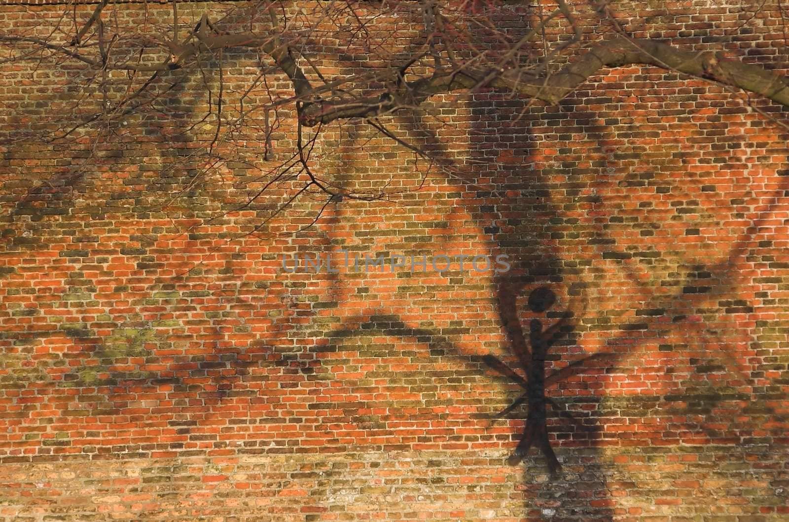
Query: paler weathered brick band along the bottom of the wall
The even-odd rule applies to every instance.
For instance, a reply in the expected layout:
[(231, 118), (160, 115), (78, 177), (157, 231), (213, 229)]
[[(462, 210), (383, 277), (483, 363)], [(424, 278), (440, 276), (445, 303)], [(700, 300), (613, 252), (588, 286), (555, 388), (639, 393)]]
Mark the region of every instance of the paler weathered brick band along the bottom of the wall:
[(7, 464), (2, 509), (10, 520), (780, 520), (772, 452), (560, 450), (553, 482), (500, 450)]

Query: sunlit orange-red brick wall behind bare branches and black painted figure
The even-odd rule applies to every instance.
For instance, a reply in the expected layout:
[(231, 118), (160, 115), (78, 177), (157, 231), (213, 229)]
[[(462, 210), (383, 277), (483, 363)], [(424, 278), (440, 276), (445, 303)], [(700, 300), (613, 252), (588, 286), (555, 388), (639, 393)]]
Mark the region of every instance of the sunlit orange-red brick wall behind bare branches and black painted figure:
[[(5, 2), (0, 21), (57, 23), (62, 6), (32, 3)], [(615, 7), (635, 35), (787, 67), (774, 2)], [(164, 24), (170, 8), (114, 13)], [(352, 51), (327, 44), (316, 64), (365, 65)], [(224, 59), (228, 114), (250, 88), (248, 106), (267, 103), (257, 55)], [(250, 125), (209, 170), (192, 161), (213, 130), (190, 127), (206, 106), (195, 71), (95, 148), (22, 140), (57, 128), (79, 74), (0, 71), (0, 520), (789, 517), (789, 150), (768, 117), (785, 110), (639, 67), (559, 106), (439, 96), (387, 124), (440, 168), (363, 123), (329, 125), (316, 171), (391, 196), (278, 212), (297, 183), (252, 196), (293, 151), (289, 106), (265, 157)], [(406, 266), (354, 268), (365, 255)], [(535, 314), (539, 287), (557, 301)], [(567, 309), (548, 372), (583, 362), (548, 383), (566, 414), (548, 419), (552, 479), (539, 449), (507, 464), (525, 406), (490, 416), (522, 390), (482, 357), (517, 367), (513, 325)]]

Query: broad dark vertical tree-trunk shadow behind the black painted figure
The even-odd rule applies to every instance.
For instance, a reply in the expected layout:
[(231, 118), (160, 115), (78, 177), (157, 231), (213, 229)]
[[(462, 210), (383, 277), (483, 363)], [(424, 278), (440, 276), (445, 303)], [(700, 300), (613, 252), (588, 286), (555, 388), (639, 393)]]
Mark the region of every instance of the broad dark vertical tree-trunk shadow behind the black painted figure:
[[(520, 442), (510, 463), (523, 458), (519, 465), (524, 467), (525, 516), (530, 520), (612, 520), (608, 482), (596, 449), (602, 437), (598, 414), (587, 409), (588, 396), (568, 396), (572, 388), (565, 388), (559, 397), (556, 382), (544, 380), (565, 363), (581, 333), (578, 324), (585, 319), (585, 306), (578, 299), (586, 299), (583, 289), (587, 265), (583, 260), (563, 258), (561, 243), (573, 234), (573, 220), (566, 217), (557, 197), (578, 190), (559, 162), (564, 151), (557, 151), (559, 157), (551, 156), (547, 149), (555, 144), (539, 130), (560, 127), (562, 118), (569, 116), (562, 110), (552, 112), (495, 92), (475, 95), (469, 105), (473, 114), (479, 115), (472, 130), (472, 136), (480, 138), (479, 146), (470, 151), (472, 163), (480, 165), (475, 173), (494, 181), (498, 195), (504, 195), (492, 199), (492, 194), (478, 194), (481, 204), (469, 202), (469, 211), (491, 234), (494, 254), (507, 255), (512, 261), (509, 271), (495, 276), (495, 303), (510, 360), (518, 361), (515, 364), (525, 378), (521, 386), (527, 390), (544, 388), (542, 406), (540, 397), (528, 408), (528, 400), (518, 405), (516, 398), (510, 405), (516, 408), (507, 412), (524, 422), (514, 434)], [(557, 177), (567, 177), (569, 187), (560, 186)], [(563, 304), (564, 309), (556, 306), (538, 310), (530, 306), (529, 296), (539, 293), (540, 288), (570, 296), (571, 302)], [(551, 337), (552, 348), (535, 351), (533, 342), (539, 345), (546, 337)], [(544, 360), (536, 361), (535, 357)], [(553, 403), (547, 411), (546, 401)], [(581, 403), (583, 408), (578, 407)], [(545, 416), (548, 418), (541, 418)], [(542, 445), (538, 444), (540, 432)], [(529, 443), (531, 451), (519, 454)], [(557, 460), (552, 464), (554, 449)]]

